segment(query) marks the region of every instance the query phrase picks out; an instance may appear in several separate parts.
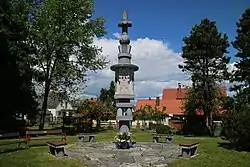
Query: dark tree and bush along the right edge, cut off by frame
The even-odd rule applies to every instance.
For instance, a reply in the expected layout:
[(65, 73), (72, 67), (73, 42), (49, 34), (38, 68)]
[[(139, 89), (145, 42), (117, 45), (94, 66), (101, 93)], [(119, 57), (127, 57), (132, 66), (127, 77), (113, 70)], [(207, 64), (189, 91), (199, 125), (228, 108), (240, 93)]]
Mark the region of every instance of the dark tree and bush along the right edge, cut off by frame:
[(228, 112), (223, 119), (223, 136), (237, 147), (250, 150), (250, 8), (247, 8), (236, 23), (237, 35), (232, 42), (239, 60), (233, 71), (232, 81), (238, 82), (234, 98), (228, 99)]

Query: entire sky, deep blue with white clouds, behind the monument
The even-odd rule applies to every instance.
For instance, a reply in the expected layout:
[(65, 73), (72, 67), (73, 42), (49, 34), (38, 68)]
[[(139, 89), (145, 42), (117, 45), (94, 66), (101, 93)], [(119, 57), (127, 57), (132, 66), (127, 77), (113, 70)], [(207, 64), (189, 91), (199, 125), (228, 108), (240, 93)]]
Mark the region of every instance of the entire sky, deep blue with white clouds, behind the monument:
[[(219, 31), (227, 33), (231, 42), (236, 35), (236, 22), (249, 6), (249, 0), (95, 0), (94, 17), (106, 18), (108, 34), (95, 39), (94, 44), (103, 48), (102, 54), (108, 56), (110, 64), (89, 76), (86, 94), (98, 95), (101, 88), (107, 88), (114, 80), (109, 67), (117, 63), (119, 41), (113, 34), (121, 32), (117, 24), (124, 10), (133, 22), (129, 36), (132, 63), (140, 68), (134, 82), (138, 99), (161, 96), (164, 88), (176, 88), (178, 83), (190, 85), (190, 76), (178, 68), (183, 62), (180, 56), (183, 37), (189, 36), (191, 28), (207, 17), (216, 21)], [(235, 50), (230, 47), (229, 51), (232, 58), (228, 68), (232, 70)]]

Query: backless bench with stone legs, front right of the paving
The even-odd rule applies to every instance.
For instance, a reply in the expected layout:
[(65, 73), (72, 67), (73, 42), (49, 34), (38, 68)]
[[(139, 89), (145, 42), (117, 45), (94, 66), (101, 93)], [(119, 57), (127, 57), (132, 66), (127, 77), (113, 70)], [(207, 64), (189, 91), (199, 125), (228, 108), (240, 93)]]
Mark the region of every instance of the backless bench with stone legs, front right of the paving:
[(181, 147), (181, 156), (185, 158), (191, 158), (196, 155), (198, 149), (199, 142), (188, 142), (181, 143), (179, 146)]

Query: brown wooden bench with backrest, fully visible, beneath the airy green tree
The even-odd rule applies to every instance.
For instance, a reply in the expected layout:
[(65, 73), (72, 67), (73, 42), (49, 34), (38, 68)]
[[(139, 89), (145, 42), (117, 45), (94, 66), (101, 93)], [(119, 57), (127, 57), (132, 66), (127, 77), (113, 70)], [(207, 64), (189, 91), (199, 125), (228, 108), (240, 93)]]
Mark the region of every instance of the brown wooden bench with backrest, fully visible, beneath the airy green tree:
[(42, 131), (28, 130), (26, 131), (26, 137), (25, 137), (26, 143), (29, 146), (31, 137), (32, 137), (32, 140), (58, 139), (58, 136), (55, 136), (52, 138), (51, 137), (50, 138), (43, 138), (43, 137), (36, 138), (38, 136), (46, 136), (46, 135), (60, 135), (61, 141), (66, 142), (66, 134), (63, 133), (61, 129), (57, 129), (57, 130), (42, 130)]

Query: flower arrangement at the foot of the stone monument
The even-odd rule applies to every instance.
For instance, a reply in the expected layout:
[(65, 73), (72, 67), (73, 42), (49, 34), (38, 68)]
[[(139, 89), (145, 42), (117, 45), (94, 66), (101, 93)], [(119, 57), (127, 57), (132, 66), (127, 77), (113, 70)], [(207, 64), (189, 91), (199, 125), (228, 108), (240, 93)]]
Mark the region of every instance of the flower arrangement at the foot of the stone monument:
[(132, 133), (121, 132), (117, 134), (114, 139), (116, 140), (116, 147), (120, 149), (128, 149), (132, 147)]

